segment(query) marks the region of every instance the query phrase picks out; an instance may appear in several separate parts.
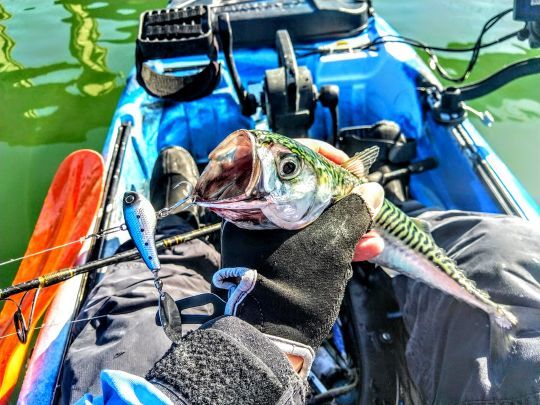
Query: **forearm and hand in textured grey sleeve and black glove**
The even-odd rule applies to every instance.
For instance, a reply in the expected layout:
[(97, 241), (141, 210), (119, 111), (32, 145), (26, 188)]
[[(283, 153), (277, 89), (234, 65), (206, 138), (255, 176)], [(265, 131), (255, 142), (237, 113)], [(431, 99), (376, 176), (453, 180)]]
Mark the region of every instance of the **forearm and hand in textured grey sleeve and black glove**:
[[(370, 201), (370, 197), (367, 199)], [(156, 364), (148, 378), (158, 385), (172, 386), (188, 398), (193, 393), (200, 395), (208, 387), (208, 398), (227, 398), (228, 402), (223, 403), (231, 403), (227, 395), (230, 390), (234, 395), (244, 395), (244, 402), (249, 403), (274, 403), (285, 397), (290, 403), (304, 401), (314, 349), (328, 335), (337, 317), (352, 274), (354, 247), (370, 226), (370, 214), (365, 200), (353, 195), (301, 231), (250, 232), (226, 224), (222, 232), (222, 260), (226, 268), (218, 272), (214, 281), (234, 289), (226, 314), (235, 316), (220, 318), (209, 328), (203, 326), (184, 338)], [(238, 279), (244, 284), (236, 285)], [(245, 282), (252, 283), (249, 292), (244, 291), (247, 295), (243, 294)], [(257, 314), (262, 314), (262, 318)], [(223, 330), (213, 330), (230, 322), (235, 322), (235, 331), (243, 333), (230, 336), (228, 329), (229, 335), (224, 336)], [(218, 339), (218, 343), (212, 343), (212, 339)], [(260, 342), (257, 347), (245, 345), (255, 340)], [(224, 356), (229, 346), (236, 354)], [(285, 354), (301, 357), (298, 374)], [(225, 361), (220, 363), (223, 358)], [(272, 365), (266, 364), (271, 358)], [(231, 367), (230, 359), (241, 361)], [(261, 363), (263, 368), (255, 367)], [(212, 365), (211, 372), (204, 376), (210, 381), (204, 382), (200, 380), (200, 370), (209, 370), (208, 364)], [(272, 367), (281, 370), (281, 385), (274, 383), (279, 381), (275, 377), (277, 371), (265, 374)], [(189, 371), (184, 373), (186, 370)], [(239, 375), (244, 376), (241, 382)], [(271, 400), (268, 392), (274, 395)], [(198, 397), (196, 402), (201, 401)], [(207, 402), (215, 403), (212, 401)]]

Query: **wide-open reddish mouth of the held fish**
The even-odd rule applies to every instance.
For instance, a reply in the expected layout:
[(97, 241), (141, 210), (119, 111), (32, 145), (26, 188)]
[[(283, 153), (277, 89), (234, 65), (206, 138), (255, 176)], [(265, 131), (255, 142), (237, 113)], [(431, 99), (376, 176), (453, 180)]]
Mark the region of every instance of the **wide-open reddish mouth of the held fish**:
[(197, 204), (221, 209), (257, 209), (261, 164), (255, 136), (238, 130), (227, 136), (208, 156), (209, 162), (195, 186)]

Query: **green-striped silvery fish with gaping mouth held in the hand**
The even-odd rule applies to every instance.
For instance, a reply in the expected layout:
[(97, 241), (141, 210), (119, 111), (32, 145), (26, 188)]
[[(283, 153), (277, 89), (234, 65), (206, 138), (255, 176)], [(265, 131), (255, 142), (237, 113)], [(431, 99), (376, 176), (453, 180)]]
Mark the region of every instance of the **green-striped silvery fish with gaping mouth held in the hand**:
[[(331, 204), (367, 183), (378, 148), (337, 165), (294, 139), (239, 130), (209, 155), (195, 189), (197, 204), (247, 229), (300, 229)], [(420, 220), (384, 200), (374, 229), (385, 241), (371, 260), (420, 280), (488, 313), (503, 328), (517, 318), (476, 287), (437, 246)]]

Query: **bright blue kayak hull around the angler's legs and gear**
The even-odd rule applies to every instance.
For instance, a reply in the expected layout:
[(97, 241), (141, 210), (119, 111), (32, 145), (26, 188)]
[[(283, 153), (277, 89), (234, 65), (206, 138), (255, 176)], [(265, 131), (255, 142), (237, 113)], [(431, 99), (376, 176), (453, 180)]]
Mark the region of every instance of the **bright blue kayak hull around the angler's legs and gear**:
[[(413, 48), (393, 42), (365, 49), (359, 46), (385, 35), (398, 34), (382, 17), (371, 14), (365, 26), (351, 36), (316, 38), (301, 44), (308, 51), (298, 51), (297, 63), (311, 72), (313, 84), (318, 89), (339, 87), (339, 128), (358, 128), (381, 120), (397, 123), (407, 139), (415, 141), (415, 161), (430, 158), (437, 162), (435, 168), (410, 178), (411, 195), (426, 206), (538, 220), (538, 205), (472, 123), (466, 118), (442, 122), (436, 116), (424, 90), (442, 86)], [(242, 82), (253, 94), (261, 92), (265, 73), (279, 67), (272, 44), (256, 48), (235, 45), (234, 59)], [(223, 55), (219, 54), (217, 62), (221, 64), (219, 82), (210, 94), (191, 101), (154, 97), (141, 87), (135, 70), (130, 74), (103, 147), (109, 170), (104, 228), (124, 222), (125, 191), (148, 196), (152, 168), (164, 147), (181, 146), (204, 165), (208, 154), (231, 132), (270, 129), (260, 108), (249, 116), (242, 114), (234, 78)], [(207, 55), (185, 55), (153, 60), (149, 65), (161, 72), (185, 72), (207, 63)], [(329, 109), (317, 105), (308, 136), (331, 142), (335, 136), (333, 119)], [(128, 237), (126, 232), (108, 235), (90, 257), (114, 254)], [(79, 304), (80, 297), (71, 297), (55, 310), (76, 314)], [(47, 357), (50, 367), (47, 375), (25, 380), (25, 387), (32, 387), (24, 392), (25, 403), (53, 401), (68, 341), (69, 328), (65, 327), (46, 347), (37, 349)]]

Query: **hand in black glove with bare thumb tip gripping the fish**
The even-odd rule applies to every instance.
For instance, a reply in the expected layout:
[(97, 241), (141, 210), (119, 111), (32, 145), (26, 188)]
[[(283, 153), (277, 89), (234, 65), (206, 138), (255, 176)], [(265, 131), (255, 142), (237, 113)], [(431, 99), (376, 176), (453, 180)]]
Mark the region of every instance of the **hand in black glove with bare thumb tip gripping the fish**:
[[(369, 183), (300, 231), (250, 231), (225, 223), (218, 288), (229, 289), (226, 314), (265, 333), (302, 372), (332, 328), (352, 275), (360, 237), (380, 208), (383, 190)], [(301, 373), (301, 374), (303, 374)]]

